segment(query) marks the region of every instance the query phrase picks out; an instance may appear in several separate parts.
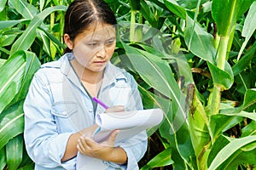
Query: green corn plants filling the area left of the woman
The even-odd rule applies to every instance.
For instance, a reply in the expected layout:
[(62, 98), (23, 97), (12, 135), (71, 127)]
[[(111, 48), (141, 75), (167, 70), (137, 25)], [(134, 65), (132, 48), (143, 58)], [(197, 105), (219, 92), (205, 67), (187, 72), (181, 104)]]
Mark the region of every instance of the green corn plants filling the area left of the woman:
[[(33, 168), (23, 142), (23, 101), (40, 64), (58, 58), (64, 48), (56, 29), (63, 27), (61, 14), (67, 7), (38, 4), (0, 3), (0, 169)], [(55, 19), (55, 12), (60, 18)]]

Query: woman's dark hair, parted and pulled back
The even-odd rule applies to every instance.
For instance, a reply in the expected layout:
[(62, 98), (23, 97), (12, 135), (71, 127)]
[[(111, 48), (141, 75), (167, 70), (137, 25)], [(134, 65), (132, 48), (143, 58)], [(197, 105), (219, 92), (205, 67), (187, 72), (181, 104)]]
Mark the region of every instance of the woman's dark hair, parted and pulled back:
[[(113, 11), (103, 0), (74, 0), (65, 14), (64, 34), (73, 40), (92, 23), (117, 24)], [(71, 52), (66, 48), (65, 53)]]

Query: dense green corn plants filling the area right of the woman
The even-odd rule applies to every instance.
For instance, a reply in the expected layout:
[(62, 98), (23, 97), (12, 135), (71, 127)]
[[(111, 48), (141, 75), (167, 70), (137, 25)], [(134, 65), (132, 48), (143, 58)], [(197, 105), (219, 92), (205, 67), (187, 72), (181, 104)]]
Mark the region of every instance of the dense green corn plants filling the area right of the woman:
[[(255, 2), (126, 3), (131, 35), (119, 46), (121, 65), (141, 82), (144, 106), (166, 112), (156, 132), (165, 149), (142, 169), (255, 167)], [(161, 35), (148, 37), (135, 22)]]

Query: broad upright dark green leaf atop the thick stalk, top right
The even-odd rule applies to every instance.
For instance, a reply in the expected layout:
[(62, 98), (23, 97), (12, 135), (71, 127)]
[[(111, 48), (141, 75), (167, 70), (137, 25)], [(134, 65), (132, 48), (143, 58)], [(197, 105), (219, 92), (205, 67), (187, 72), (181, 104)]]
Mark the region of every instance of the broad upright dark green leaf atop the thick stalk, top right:
[(212, 18), (216, 21), (218, 35), (229, 37), (236, 20), (244, 14), (254, 0), (212, 0)]

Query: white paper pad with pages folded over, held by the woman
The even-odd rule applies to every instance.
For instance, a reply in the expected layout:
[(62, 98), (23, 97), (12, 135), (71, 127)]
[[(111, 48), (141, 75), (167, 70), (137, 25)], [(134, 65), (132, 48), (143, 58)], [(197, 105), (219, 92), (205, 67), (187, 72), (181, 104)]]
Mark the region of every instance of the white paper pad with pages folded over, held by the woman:
[[(96, 116), (98, 128), (93, 133), (93, 139), (100, 143), (108, 139), (109, 134), (116, 129), (119, 130), (116, 142), (129, 139), (149, 127), (160, 124), (163, 117), (163, 111), (160, 109), (102, 113)], [(108, 167), (106, 166), (102, 160), (84, 156), (80, 153), (77, 156), (77, 170), (105, 170)]]

